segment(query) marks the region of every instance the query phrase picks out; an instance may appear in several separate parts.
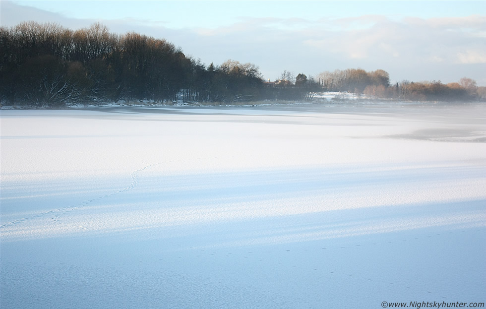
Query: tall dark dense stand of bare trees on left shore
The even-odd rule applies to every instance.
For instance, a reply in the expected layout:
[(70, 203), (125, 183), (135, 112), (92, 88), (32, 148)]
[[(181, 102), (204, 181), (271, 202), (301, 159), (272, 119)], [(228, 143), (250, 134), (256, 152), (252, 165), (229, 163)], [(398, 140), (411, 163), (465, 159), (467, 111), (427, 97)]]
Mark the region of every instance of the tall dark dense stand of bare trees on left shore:
[(0, 102), (66, 106), (106, 101), (233, 102), (264, 98), (258, 67), (207, 67), (165, 40), (25, 22), (0, 28)]

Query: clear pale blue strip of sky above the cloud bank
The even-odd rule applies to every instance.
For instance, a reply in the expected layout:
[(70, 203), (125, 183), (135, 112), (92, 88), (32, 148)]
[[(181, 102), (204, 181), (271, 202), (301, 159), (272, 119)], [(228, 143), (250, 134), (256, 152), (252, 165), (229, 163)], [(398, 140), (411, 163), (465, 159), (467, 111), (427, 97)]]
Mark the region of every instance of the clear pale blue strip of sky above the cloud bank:
[[(385, 15), (399, 19), (457, 17), (485, 10), (485, 2), (471, 1), (42, 1), (16, 4), (78, 19), (141, 19), (169, 28), (219, 27), (244, 17), (304, 18)], [(114, 9), (115, 8), (115, 9)]]

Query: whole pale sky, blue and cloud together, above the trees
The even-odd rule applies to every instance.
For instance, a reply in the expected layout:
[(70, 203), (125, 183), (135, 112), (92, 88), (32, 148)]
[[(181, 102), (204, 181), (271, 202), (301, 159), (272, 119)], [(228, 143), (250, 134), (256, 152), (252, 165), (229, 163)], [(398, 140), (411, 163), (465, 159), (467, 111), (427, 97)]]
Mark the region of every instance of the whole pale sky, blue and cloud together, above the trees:
[(486, 86), (486, 1), (0, 0), (0, 24), (94, 22), (166, 39), (209, 64), (284, 70), (383, 69), (392, 82), (473, 78)]

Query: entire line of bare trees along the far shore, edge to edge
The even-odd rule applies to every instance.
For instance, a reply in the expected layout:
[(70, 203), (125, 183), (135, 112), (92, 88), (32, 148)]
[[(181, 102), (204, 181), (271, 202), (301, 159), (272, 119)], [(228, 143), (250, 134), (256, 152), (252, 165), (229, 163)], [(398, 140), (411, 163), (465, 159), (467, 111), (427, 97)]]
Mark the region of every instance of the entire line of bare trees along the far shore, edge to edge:
[(0, 27), (0, 103), (61, 107), (79, 103), (249, 102), (311, 100), (321, 91), (347, 91), (405, 100), (466, 100), (485, 87), (463, 78), (390, 84), (384, 70), (322, 72), (316, 77), (284, 71), (263, 81), (258, 66), (228, 60), (205, 65), (162, 39), (110, 33), (95, 23), (70, 30), (58, 24), (24, 22)]

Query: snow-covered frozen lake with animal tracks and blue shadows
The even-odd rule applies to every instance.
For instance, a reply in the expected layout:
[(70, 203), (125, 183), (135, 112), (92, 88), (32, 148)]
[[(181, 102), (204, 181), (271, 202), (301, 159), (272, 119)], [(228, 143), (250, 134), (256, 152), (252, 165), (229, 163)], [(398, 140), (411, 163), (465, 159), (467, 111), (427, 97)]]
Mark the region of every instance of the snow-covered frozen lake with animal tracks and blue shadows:
[(486, 301), (486, 105), (0, 115), (2, 309)]

